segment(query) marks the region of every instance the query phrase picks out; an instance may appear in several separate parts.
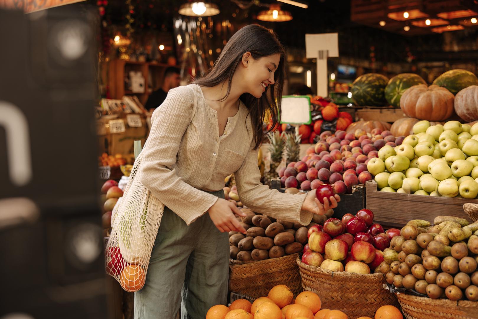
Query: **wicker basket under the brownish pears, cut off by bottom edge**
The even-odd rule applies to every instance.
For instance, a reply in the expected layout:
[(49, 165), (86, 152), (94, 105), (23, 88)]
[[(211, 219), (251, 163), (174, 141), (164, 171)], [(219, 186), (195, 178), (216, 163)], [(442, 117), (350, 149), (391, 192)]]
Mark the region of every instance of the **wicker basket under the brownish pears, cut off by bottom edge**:
[(478, 302), (431, 299), (408, 294), (397, 294), (402, 312), (407, 319), (476, 319)]

